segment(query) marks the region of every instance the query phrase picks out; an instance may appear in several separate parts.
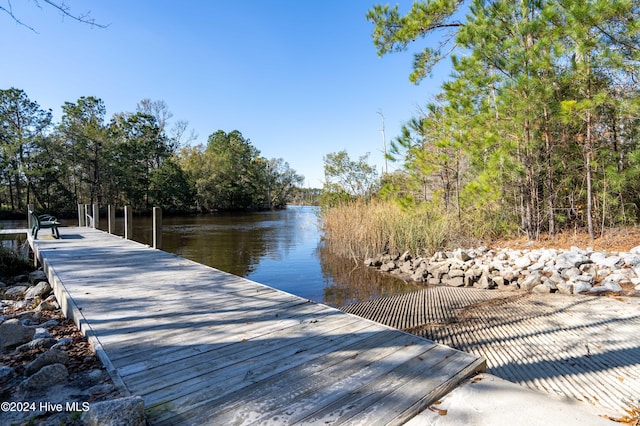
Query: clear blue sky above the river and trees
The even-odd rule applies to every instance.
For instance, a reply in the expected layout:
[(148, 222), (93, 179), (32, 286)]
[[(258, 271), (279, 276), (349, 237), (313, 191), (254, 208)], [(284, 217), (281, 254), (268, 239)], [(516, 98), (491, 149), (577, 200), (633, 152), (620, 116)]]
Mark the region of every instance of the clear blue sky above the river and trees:
[(1, 88), (24, 90), (56, 121), (80, 96), (102, 99), (108, 117), (162, 100), (195, 143), (239, 130), (309, 187), (322, 186), (323, 156), (342, 149), (370, 153), (381, 170), (377, 112), (389, 143), (448, 74), (441, 67), (416, 86), (411, 52), (377, 56), (365, 19), (375, 0), (66, 1), (107, 29), (63, 20), (44, 2), (11, 3), (37, 33), (0, 14)]

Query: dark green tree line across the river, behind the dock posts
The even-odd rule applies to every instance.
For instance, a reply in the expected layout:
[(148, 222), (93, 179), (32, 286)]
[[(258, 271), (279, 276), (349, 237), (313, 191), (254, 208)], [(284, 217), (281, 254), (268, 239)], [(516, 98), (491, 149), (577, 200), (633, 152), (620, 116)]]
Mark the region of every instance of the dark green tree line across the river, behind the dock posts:
[(77, 204), (153, 206), (168, 212), (271, 209), (286, 205), (304, 177), (266, 159), (239, 131), (218, 130), (192, 145), (188, 124), (169, 128), (163, 101), (106, 120), (95, 97), (65, 102), (53, 122), (20, 89), (0, 90), (0, 205), (62, 214)]

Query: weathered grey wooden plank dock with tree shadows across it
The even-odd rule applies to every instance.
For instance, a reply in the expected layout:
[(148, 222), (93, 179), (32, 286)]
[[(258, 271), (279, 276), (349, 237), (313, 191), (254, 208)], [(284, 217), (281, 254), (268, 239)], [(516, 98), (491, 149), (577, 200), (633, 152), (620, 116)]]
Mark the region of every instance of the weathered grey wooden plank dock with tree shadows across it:
[(403, 424), (477, 356), (90, 228), (31, 241), (153, 425)]

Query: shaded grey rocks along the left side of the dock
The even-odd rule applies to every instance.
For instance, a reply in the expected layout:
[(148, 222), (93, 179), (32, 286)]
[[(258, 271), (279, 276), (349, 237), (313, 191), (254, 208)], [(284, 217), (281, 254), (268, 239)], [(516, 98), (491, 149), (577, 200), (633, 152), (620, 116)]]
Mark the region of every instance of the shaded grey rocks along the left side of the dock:
[[(0, 281), (0, 424), (117, 424), (110, 422), (131, 398), (64, 317), (45, 279), (35, 271)], [(141, 399), (134, 402), (142, 413)]]

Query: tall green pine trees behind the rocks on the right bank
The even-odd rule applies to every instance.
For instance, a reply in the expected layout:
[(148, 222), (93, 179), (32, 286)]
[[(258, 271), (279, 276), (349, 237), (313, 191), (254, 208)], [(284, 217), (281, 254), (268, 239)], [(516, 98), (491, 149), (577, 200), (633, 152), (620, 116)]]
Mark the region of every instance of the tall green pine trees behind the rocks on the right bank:
[(429, 0), (367, 14), (410, 80), (453, 72), (392, 144), (381, 193), (530, 238), (640, 219), (640, 3)]

